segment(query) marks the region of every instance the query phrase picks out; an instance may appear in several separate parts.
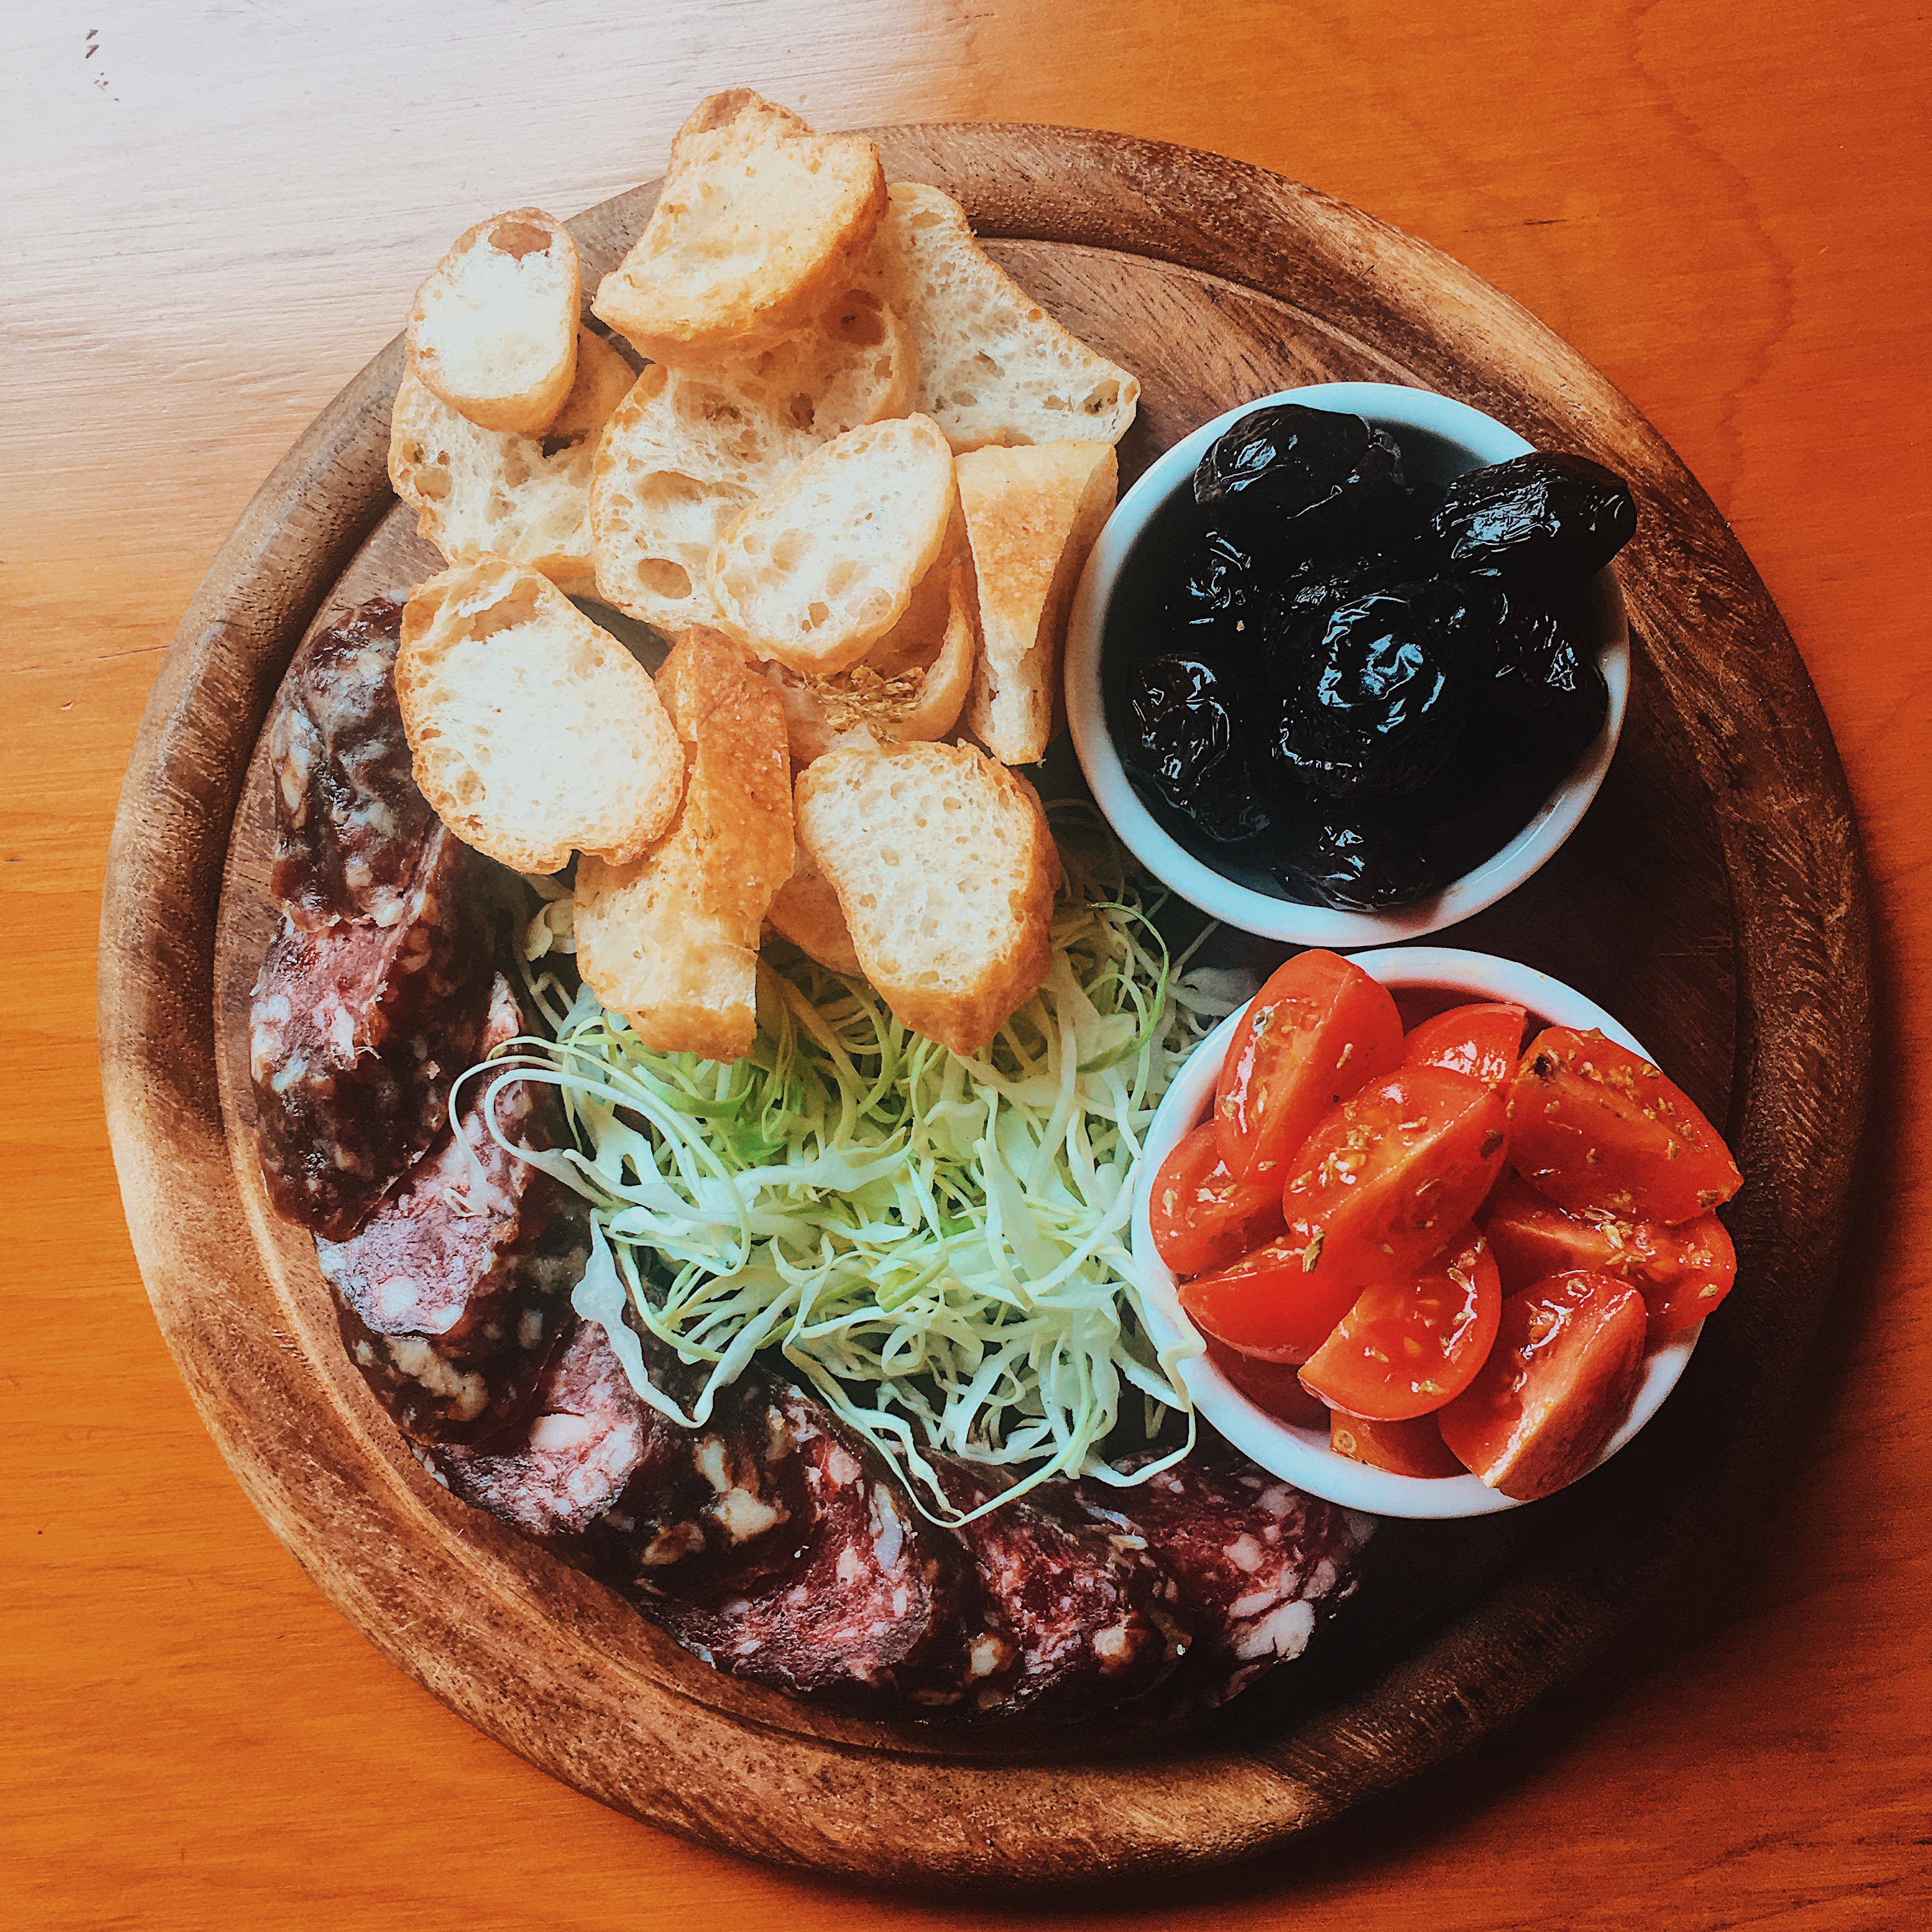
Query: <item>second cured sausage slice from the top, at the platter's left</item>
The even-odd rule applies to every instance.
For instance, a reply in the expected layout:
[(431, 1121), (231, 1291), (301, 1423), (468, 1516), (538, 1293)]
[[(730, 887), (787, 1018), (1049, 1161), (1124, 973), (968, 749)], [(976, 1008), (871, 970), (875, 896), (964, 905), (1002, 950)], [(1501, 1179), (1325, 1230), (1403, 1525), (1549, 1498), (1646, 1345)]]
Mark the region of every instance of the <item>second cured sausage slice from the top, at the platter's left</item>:
[(444, 1124), (491, 985), (473, 854), (437, 825), (392, 925), (292, 918), (249, 1007), (261, 1171), (280, 1215), (348, 1240)]

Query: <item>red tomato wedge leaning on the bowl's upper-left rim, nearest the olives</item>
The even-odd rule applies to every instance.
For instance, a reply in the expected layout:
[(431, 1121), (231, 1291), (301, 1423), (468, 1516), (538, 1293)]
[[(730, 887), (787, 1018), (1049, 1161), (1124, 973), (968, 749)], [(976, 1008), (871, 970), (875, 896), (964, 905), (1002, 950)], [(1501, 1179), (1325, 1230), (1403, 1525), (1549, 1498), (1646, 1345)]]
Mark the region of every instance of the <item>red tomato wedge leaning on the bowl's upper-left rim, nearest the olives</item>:
[(1254, 995), (1221, 1063), (1213, 1121), (1229, 1173), (1279, 1186), (1321, 1115), (1401, 1059), (1389, 989), (1337, 952), (1298, 952)]

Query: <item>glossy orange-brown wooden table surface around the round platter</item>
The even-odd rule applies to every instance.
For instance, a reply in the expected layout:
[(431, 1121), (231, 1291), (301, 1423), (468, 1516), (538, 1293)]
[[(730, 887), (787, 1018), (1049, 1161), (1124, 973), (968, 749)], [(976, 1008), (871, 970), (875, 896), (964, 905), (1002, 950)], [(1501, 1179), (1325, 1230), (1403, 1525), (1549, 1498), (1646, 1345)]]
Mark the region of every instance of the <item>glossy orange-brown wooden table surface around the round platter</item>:
[[(1731, 518), (1876, 887), (1862, 1236), (1747, 1559), (1563, 1710), (1262, 1866), (1003, 1907), (605, 1812), (383, 1663), (160, 1345), (95, 1066), (99, 891), (176, 618), (450, 238), (819, 126), (1219, 149), (1561, 330)], [(0, 17), (0, 1913), (19, 1926), (1872, 1926), (1932, 1911), (1932, 37), (1907, 0), (100, 0)]]

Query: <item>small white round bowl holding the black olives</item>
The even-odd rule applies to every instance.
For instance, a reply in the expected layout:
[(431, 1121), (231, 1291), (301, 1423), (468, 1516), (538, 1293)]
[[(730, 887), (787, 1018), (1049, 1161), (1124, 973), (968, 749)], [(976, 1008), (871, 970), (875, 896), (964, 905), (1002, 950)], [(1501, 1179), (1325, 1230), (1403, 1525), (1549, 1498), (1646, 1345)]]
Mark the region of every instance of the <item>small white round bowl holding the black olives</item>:
[(1252, 410), (1275, 402), (1296, 402), (1310, 410), (1337, 410), (1362, 415), (1391, 431), (1403, 444), (1403, 456), (1418, 473), (1434, 473), (1437, 481), (1478, 469), (1484, 464), (1524, 456), (1530, 444), (1495, 417), (1472, 410), (1466, 402), (1426, 388), (1403, 388), (1395, 383), (1318, 383), (1310, 388), (1285, 388), (1273, 396), (1244, 402), (1238, 410), (1202, 423), (1184, 437), (1121, 498), (1107, 527), (1099, 533), (1088, 556), (1080, 589), (1074, 593), (1066, 622), (1066, 723), (1072, 728), (1074, 752), (1095, 802), (1107, 815), (1121, 842), (1157, 879), (1192, 900), (1202, 912), (1229, 925), (1238, 925), (1267, 939), (1287, 939), (1302, 947), (1374, 947), (1397, 939), (1420, 939), (1482, 912), (1505, 893), (1515, 891), (1542, 866), (1577, 829), (1590, 800), (1596, 798), (1609, 759), (1623, 730), (1623, 711), (1631, 692), (1631, 626), (1623, 612), (1613, 570), (1604, 570), (1588, 587), (1590, 618), (1598, 663), (1609, 686), (1609, 713), (1596, 742), (1577, 759), (1557, 788), (1544, 800), (1528, 825), (1509, 844), (1486, 858), (1474, 871), (1463, 873), (1430, 898), (1389, 912), (1343, 912), (1335, 906), (1314, 906), (1293, 898), (1277, 898), (1231, 879), (1196, 858), (1167, 833), (1134, 790), (1121, 753), (1107, 728), (1107, 707), (1101, 696), (1101, 643), (1107, 632), (1107, 609), (1115, 585), (1126, 566), (1128, 553), (1146, 531), (1153, 514), (1177, 493), (1190, 487), (1194, 466), (1202, 452), (1231, 423)]

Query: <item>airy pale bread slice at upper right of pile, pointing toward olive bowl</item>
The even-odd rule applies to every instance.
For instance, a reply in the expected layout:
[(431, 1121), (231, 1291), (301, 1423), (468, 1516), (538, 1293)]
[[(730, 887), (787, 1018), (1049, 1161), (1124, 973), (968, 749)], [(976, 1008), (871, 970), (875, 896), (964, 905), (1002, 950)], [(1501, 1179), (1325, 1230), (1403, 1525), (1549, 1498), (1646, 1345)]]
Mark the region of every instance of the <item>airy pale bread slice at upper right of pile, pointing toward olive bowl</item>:
[(954, 450), (1119, 442), (1140, 383), (1063, 328), (974, 240), (956, 201), (895, 182), (867, 278), (920, 350), (920, 402)]

